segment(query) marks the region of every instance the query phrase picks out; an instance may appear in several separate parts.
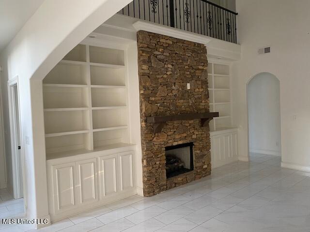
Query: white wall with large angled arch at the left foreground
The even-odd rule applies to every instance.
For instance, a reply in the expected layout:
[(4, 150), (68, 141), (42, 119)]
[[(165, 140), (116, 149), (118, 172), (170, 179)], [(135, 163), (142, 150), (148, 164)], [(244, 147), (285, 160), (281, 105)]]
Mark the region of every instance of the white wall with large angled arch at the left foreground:
[[(10, 148), (7, 80), (19, 77), (24, 195), (29, 218), (48, 216), (42, 79), (74, 46), (130, 0), (45, 0), (0, 54), (5, 146)], [(30, 143), (25, 143), (25, 138)], [(6, 149), (6, 152), (10, 152)]]

